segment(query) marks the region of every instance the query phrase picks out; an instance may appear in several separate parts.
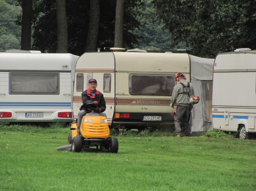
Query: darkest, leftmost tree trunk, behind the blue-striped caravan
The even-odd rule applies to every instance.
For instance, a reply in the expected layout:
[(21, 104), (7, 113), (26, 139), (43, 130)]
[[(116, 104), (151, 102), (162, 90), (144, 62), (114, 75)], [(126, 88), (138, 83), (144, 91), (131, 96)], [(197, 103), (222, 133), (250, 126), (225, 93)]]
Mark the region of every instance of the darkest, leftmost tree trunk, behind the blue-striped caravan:
[(31, 48), (32, 0), (22, 1), (21, 50)]

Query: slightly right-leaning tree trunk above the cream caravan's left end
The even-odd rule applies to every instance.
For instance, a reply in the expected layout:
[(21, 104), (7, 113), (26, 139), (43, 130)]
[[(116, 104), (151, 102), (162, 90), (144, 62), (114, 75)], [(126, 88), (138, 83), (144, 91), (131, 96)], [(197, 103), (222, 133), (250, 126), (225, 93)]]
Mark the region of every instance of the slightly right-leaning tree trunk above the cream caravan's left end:
[(100, 21), (100, 0), (90, 0), (90, 21), (85, 52), (95, 52)]

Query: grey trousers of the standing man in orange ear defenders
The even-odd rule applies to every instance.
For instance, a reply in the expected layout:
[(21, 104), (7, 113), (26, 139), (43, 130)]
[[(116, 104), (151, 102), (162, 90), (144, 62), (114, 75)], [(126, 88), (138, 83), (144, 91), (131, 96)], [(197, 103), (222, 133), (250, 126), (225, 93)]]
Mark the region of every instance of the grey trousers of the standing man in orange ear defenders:
[(183, 133), (186, 136), (191, 136), (191, 124), (189, 123), (189, 106), (177, 105), (177, 109), (174, 116), (174, 125), (176, 129), (176, 135), (180, 135), (182, 132), (181, 127), (183, 126)]

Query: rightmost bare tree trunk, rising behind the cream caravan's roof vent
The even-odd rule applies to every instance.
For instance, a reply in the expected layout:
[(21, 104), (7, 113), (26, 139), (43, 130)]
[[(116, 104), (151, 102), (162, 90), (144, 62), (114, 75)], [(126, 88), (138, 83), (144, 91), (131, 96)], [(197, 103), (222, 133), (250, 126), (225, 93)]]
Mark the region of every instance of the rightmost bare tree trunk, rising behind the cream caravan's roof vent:
[(125, 4), (125, 0), (116, 1), (115, 42), (114, 42), (114, 47), (116, 48), (123, 48), (124, 4)]

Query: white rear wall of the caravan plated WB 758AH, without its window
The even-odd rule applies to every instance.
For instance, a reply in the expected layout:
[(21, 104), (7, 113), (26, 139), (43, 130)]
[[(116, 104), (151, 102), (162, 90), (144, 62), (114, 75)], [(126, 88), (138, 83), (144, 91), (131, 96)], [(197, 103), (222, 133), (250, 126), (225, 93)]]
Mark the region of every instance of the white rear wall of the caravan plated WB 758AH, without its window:
[[(0, 116), (0, 122), (72, 122), (73, 116), (58, 117), (58, 113), (73, 112), (72, 75), (77, 59), (78, 56), (71, 54), (0, 53), (0, 113), (12, 113), (10, 118)], [(59, 75), (59, 93), (10, 93), (9, 76), (12, 72), (56, 72)], [(33, 81), (35, 85), (37, 82)]]

